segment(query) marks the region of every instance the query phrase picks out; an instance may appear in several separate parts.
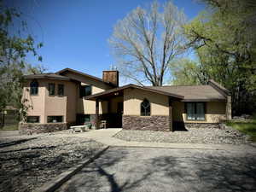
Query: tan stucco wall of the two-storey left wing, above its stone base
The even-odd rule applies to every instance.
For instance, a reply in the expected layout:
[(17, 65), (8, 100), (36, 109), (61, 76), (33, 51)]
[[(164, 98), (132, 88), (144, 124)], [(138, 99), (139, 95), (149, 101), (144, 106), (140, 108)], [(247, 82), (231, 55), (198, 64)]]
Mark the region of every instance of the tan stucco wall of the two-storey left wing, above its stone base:
[[(76, 119), (77, 84), (61, 80), (38, 79), (38, 95), (30, 95), (28, 81), (23, 88), (28, 116), (39, 116), (40, 123), (47, 123), (47, 116), (63, 116), (63, 123), (74, 122)], [(49, 96), (48, 84), (55, 84), (55, 96)], [(57, 96), (58, 84), (64, 84), (64, 96)], [(68, 111), (68, 113), (67, 113)]]

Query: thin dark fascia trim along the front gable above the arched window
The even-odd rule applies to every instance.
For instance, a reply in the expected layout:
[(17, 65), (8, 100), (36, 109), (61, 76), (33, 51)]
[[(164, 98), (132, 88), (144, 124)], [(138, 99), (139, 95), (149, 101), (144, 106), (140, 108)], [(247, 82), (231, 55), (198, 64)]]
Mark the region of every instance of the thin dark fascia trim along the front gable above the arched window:
[(91, 96), (85, 96), (85, 99), (96, 100), (97, 97), (108, 95), (110, 93), (113, 93), (113, 92), (116, 92), (116, 91), (119, 91), (119, 90), (125, 90), (125, 89), (128, 89), (128, 88), (134, 88), (134, 89), (139, 89), (139, 90), (148, 90), (150, 92), (158, 93), (160, 95), (165, 95), (165, 96), (172, 96), (172, 97), (175, 97), (175, 98), (178, 98), (178, 99), (183, 99), (184, 98), (183, 96), (168, 93), (168, 92), (162, 91), (162, 90), (153, 90), (153, 89), (150, 89), (150, 88), (147, 88), (147, 87), (138, 86), (136, 84), (126, 84), (125, 86), (122, 86), (122, 87), (119, 87), (119, 88), (114, 88), (112, 90), (106, 90), (106, 91), (103, 91), (101, 93), (96, 93), (96, 94), (91, 95)]

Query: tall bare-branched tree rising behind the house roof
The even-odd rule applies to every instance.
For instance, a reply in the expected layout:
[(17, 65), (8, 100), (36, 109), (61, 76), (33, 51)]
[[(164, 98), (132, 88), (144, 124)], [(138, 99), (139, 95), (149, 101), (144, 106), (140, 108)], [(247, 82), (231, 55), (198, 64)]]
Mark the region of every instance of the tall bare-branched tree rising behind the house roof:
[(137, 84), (162, 85), (168, 65), (184, 51), (183, 11), (170, 1), (137, 7), (114, 26), (109, 43), (126, 78)]

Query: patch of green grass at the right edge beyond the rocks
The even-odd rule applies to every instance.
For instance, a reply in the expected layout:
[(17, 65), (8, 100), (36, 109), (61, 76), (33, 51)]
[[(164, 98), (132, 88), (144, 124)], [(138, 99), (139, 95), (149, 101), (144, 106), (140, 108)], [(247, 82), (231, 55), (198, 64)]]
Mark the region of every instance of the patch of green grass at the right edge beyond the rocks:
[(256, 119), (250, 122), (227, 122), (226, 125), (235, 128), (251, 137), (253, 142), (256, 142)]

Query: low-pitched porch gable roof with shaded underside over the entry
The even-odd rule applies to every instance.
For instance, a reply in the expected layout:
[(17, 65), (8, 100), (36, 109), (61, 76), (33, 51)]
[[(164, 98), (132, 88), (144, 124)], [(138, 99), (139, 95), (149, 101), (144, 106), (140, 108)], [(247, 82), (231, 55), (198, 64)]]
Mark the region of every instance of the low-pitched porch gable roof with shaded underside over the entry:
[(125, 86), (121, 86), (121, 87), (118, 87), (118, 88), (113, 88), (111, 90), (106, 90), (106, 91), (103, 91), (101, 93), (96, 93), (96, 94), (91, 95), (91, 96), (85, 96), (85, 99), (96, 101), (97, 99), (98, 100), (105, 100), (108, 97), (112, 97), (112, 96), (123, 96), (124, 90), (129, 89), (129, 88), (139, 89), (139, 90), (146, 90), (146, 91), (154, 92), (154, 93), (164, 95), (164, 96), (171, 96), (171, 97), (176, 98), (178, 100), (183, 100), (183, 98), (184, 98), (184, 96), (180, 96), (180, 95), (177, 95), (177, 94), (174, 94), (174, 93), (169, 93), (169, 92), (162, 91), (162, 90), (154, 90), (154, 89), (151, 89), (151, 88), (148, 88), (148, 87), (138, 86), (136, 84), (127, 84)]

